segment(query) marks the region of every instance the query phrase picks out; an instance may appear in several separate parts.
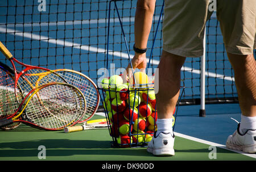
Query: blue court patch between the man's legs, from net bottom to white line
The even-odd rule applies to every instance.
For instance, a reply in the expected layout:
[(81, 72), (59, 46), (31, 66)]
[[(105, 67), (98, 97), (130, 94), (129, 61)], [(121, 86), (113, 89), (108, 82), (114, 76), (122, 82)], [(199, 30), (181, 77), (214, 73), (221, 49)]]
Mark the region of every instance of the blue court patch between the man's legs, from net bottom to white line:
[(241, 120), (238, 104), (208, 104), (207, 115), (199, 117), (200, 106), (180, 106), (176, 118), (175, 132), (225, 145), (229, 135), (237, 129)]

